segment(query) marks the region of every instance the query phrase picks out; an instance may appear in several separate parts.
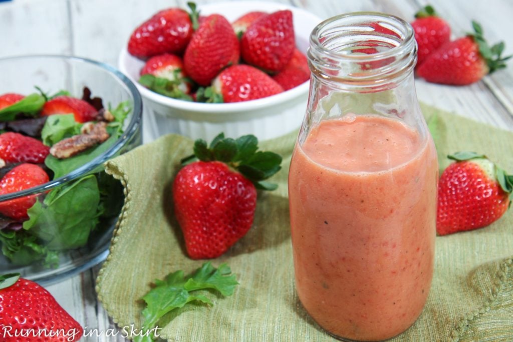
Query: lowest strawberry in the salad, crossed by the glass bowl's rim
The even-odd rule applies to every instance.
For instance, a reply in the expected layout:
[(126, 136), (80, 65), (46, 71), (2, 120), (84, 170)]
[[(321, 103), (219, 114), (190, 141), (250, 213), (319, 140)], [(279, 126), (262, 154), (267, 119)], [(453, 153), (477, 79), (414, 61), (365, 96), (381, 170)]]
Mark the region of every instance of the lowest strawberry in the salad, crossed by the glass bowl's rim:
[[(49, 181), (48, 174), (35, 164), (20, 164), (9, 171), (0, 180), (0, 195), (27, 190)], [(28, 195), (0, 202), (0, 213), (14, 219), (28, 218), (27, 209), (31, 208), (37, 195)]]

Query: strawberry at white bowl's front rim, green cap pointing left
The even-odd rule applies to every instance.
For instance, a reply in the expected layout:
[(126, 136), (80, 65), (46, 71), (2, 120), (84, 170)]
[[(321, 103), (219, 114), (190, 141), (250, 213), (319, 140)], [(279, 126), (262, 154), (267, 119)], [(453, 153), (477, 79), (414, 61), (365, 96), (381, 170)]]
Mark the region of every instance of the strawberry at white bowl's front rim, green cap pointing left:
[(223, 70), (209, 88), (198, 91), (199, 102), (241, 102), (283, 92), (282, 86), (268, 74), (244, 64)]

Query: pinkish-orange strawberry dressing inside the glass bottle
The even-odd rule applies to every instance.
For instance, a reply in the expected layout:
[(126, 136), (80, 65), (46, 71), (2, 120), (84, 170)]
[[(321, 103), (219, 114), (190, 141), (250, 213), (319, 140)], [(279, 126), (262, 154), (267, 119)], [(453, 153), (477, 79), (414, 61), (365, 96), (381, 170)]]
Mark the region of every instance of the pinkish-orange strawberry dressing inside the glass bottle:
[(321, 327), (376, 341), (419, 317), (433, 273), (437, 178), (431, 138), (383, 116), (322, 120), (295, 147), (295, 285)]

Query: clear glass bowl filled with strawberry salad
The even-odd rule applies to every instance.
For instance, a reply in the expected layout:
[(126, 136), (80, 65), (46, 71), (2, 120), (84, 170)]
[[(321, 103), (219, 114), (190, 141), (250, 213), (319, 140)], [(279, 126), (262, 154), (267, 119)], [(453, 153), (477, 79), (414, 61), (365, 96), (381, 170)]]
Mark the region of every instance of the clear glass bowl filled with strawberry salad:
[(0, 75), (0, 274), (54, 283), (108, 255), (124, 194), (103, 164), (141, 145), (141, 96), (121, 72), (78, 57), (0, 58)]

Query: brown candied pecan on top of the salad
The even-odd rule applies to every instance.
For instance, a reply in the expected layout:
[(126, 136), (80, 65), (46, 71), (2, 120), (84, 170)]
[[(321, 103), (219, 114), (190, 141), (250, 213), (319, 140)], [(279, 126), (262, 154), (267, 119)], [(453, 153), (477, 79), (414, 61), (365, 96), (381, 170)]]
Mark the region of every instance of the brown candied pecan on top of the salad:
[[(87, 126), (86, 126), (87, 125)], [(96, 144), (101, 144), (109, 138), (107, 123), (99, 122), (93, 125), (86, 124), (82, 134), (62, 139), (50, 148), (50, 154), (59, 159), (74, 156)]]

